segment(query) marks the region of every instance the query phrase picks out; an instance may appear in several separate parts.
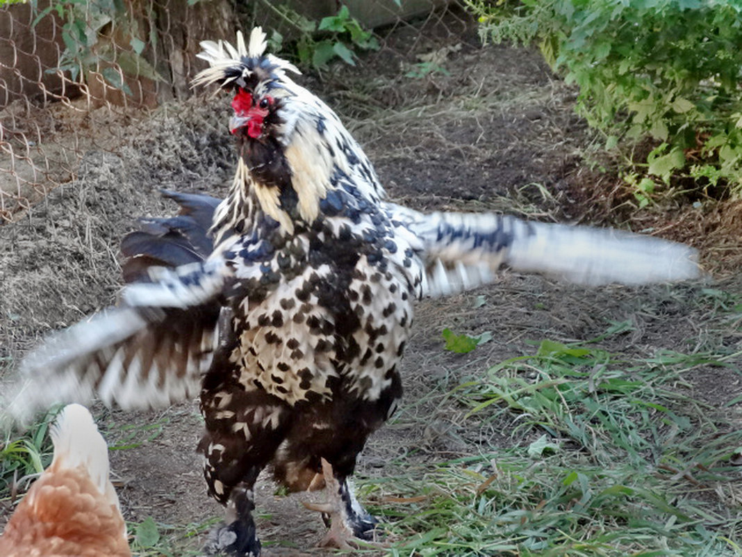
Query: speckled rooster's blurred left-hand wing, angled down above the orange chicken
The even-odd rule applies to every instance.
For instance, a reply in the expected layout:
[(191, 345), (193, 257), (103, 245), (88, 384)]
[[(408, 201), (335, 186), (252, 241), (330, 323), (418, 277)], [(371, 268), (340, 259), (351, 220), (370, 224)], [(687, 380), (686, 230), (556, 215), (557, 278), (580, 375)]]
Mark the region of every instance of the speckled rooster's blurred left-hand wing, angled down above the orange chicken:
[(194, 397), (217, 348), (224, 261), (150, 270), (122, 303), (48, 337), (21, 363), (10, 417), (26, 421), (53, 403), (99, 397), (122, 408), (158, 408)]

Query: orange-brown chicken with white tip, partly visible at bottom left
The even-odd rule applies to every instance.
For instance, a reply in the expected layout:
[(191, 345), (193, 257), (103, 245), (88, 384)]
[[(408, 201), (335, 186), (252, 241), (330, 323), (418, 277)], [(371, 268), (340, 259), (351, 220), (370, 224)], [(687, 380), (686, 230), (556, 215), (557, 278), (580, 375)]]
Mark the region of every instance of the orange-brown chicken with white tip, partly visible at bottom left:
[(108, 447), (88, 409), (71, 404), (50, 428), (54, 459), (0, 536), (3, 557), (131, 557)]

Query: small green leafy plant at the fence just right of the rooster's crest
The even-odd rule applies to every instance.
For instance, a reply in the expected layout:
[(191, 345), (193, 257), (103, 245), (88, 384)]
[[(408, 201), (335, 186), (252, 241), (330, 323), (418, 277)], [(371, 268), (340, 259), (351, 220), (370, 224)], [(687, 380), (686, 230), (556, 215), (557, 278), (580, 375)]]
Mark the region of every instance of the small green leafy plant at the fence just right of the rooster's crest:
[[(369, 30), (361, 27), (357, 19), (350, 15), (348, 7), (342, 5), (335, 16), (327, 16), (314, 22), (286, 6), (275, 6), (264, 0), (263, 4), (277, 13), (283, 21), (299, 32), (295, 43), (295, 55), (302, 65), (326, 68), (332, 59), (341, 59), (355, 65), (355, 50), (375, 51), (379, 45)], [(283, 36), (272, 33), (271, 46), (276, 51), (283, 48)]]

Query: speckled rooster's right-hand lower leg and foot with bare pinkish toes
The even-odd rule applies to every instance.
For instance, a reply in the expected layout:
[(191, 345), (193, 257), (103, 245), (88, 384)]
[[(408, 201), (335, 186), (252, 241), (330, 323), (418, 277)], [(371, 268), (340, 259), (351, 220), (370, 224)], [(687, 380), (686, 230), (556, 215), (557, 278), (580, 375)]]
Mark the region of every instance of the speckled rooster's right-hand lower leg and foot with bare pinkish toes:
[(352, 549), (358, 539), (373, 541), (378, 521), (372, 517), (353, 495), (347, 478), (335, 478), (332, 466), (323, 458), (322, 473), (328, 501), (322, 504), (305, 503), (308, 509), (322, 513), (325, 524), (329, 518), (329, 532), (320, 542), (320, 547)]

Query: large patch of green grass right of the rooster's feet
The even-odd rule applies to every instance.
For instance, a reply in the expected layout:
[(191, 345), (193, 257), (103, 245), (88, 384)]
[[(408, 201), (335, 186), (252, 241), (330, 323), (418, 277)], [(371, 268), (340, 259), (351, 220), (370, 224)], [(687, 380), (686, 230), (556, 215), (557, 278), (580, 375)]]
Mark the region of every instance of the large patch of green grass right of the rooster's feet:
[[(726, 333), (742, 332), (741, 297), (704, 291)], [(742, 432), (729, 405), (691, 397), (689, 374), (741, 374), (739, 345), (647, 358), (599, 339), (535, 343), (450, 396), (471, 429), (510, 423), (510, 446), (362, 483), (383, 516), (390, 556), (742, 555)], [(726, 406), (724, 404), (726, 403)], [(475, 436), (476, 437), (476, 436)]]

